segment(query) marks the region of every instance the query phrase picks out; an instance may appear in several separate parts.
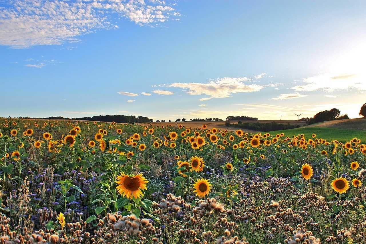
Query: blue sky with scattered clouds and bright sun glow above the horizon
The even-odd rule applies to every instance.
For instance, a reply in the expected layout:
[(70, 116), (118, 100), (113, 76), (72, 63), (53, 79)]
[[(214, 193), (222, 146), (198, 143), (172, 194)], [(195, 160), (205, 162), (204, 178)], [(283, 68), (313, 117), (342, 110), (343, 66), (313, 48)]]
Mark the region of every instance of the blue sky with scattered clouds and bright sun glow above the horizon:
[(0, 0), (0, 116), (313, 117), (366, 103), (366, 1)]

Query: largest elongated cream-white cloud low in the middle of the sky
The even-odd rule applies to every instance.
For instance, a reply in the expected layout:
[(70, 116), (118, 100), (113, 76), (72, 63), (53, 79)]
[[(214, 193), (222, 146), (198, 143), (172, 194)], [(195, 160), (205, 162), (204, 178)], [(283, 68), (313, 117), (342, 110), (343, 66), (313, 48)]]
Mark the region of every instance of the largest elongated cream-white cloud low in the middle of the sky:
[(251, 81), (251, 78), (225, 77), (203, 83), (173, 83), (168, 86), (185, 88), (185, 92), (190, 95), (208, 95), (210, 98), (229, 97), (231, 93), (257, 92), (262, 89), (260, 85), (245, 85), (244, 81)]

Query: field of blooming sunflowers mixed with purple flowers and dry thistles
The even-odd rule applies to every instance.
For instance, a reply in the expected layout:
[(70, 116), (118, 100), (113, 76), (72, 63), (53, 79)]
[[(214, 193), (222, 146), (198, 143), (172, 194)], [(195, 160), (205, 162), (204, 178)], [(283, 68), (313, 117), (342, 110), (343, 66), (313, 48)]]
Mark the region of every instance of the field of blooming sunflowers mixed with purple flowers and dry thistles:
[(0, 119), (0, 244), (366, 243), (366, 145)]

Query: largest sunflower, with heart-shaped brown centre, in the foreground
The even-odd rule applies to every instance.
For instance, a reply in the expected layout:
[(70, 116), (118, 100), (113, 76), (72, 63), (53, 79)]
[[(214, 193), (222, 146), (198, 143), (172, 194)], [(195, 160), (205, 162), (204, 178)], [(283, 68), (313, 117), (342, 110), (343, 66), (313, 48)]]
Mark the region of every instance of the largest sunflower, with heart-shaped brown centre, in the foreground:
[(147, 182), (149, 181), (142, 174), (129, 176), (122, 173), (117, 176), (116, 189), (123, 197), (138, 199), (144, 194), (142, 190), (147, 190)]

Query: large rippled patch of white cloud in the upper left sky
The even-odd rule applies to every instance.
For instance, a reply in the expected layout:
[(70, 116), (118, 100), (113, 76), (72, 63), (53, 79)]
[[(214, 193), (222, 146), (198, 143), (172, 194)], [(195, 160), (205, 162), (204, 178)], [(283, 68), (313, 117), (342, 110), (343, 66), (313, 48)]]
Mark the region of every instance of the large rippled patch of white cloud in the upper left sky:
[(116, 29), (113, 22), (121, 17), (156, 26), (180, 15), (164, 1), (14, 0), (8, 4), (0, 7), (0, 45), (13, 48), (78, 42), (79, 36), (97, 29)]

